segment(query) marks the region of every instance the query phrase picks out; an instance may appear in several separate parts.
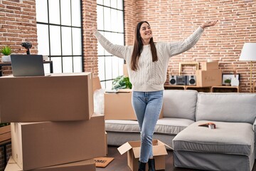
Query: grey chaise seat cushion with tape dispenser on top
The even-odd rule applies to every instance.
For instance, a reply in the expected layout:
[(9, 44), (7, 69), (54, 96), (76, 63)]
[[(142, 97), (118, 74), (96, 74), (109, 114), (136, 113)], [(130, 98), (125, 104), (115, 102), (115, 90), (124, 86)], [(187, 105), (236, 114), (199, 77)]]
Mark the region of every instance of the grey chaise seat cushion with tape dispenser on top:
[(233, 155), (251, 155), (255, 135), (250, 123), (214, 122), (216, 129), (198, 126), (201, 120), (189, 125), (173, 140), (174, 150), (213, 152)]

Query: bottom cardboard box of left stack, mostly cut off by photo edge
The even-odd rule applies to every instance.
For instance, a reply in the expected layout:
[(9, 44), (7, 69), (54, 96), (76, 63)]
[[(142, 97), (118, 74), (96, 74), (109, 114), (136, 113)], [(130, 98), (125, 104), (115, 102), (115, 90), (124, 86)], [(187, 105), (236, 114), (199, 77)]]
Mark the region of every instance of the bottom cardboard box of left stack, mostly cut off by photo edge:
[[(83, 160), (80, 162), (70, 162), (67, 164), (63, 165), (55, 165), (51, 167), (42, 167), (39, 169), (36, 169), (34, 171), (95, 171), (96, 166), (95, 166), (95, 160), (90, 159), (90, 160)], [(10, 157), (5, 171), (22, 171), (21, 167), (18, 167), (17, 163), (15, 160)], [(31, 170), (33, 171), (33, 170)]]

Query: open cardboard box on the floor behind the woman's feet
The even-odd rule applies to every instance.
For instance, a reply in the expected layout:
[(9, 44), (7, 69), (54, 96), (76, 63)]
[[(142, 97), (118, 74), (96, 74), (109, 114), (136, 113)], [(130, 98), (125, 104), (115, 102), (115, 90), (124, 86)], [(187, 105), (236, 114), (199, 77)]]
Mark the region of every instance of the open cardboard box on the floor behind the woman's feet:
[[(164, 142), (153, 140), (153, 155), (156, 170), (165, 170), (165, 157), (168, 154)], [(132, 171), (139, 168), (139, 153), (141, 141), (129, 141), (117, 148), (121, 155), (127, 152), (127, 163)], [(148, 170), (146, 165), (146, 170)]]

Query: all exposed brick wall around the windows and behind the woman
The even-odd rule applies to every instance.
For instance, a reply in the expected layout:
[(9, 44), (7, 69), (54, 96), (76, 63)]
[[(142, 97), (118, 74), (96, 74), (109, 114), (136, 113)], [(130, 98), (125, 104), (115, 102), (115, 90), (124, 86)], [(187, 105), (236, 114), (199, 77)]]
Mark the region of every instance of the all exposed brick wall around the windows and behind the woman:
[[(37, 53), (35, 0), (0, 0), (0, 48), (10, 45), (14, 53), (26, 53), (21, 42), (33, 44)], [(97, 76), (97, 40), (88, 28), (97, 26), (97, 1), (82, 1), (83, 54), (85, 71)], [(220, 20), (206, 28), (201, 40), (190, 51), (169, 61), (169, 73), (178, 73), (180, 61), (218, 60), (223, 73), (240, 73), (242, 92), (250, 90), (250, 63), (238, 61), (243, 43), (256, 42), (256, 1), (253, 0), (124, 0), (126, 45), (132, 45), (134, 26), (146, 20), (153, 29), (154, 41), (180, 41), (188, 37), (204, 21)], [(256, 80), (256, 63), (252, 76)], [(193, 68), (185, 68), (191, 73)], [(9, 68), (7, 68), (8, 72)]]

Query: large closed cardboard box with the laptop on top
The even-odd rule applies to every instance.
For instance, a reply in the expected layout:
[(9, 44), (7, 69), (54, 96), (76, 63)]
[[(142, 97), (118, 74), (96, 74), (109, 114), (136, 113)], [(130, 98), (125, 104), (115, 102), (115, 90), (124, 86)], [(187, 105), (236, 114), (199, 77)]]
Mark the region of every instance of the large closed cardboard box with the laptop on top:
[(0, 78), (0, 122), (89, 120), (91, 73)]

